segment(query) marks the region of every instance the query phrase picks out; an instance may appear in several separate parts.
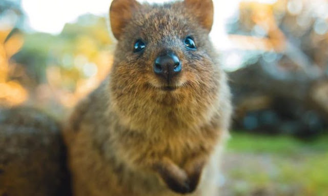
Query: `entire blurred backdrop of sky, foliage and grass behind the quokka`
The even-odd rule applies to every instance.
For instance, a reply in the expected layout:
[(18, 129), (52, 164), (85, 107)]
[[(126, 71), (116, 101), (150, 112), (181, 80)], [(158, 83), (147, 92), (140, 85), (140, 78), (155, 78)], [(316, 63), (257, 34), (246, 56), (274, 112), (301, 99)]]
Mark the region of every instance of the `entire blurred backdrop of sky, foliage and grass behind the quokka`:
[[(214, 4), (235, 106), (221, 195), (328, 195), (328, 1)], [(110, 71), (109, 6), (1, 0), (0, 107), (65, 119)]]

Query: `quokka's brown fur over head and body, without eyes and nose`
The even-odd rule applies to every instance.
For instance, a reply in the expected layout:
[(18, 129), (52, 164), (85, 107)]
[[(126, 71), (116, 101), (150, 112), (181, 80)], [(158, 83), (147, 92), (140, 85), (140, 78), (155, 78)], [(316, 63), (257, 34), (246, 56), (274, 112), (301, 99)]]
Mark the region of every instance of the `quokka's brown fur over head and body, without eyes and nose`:
[[(159, 6), (114, 0), (110, 17), (118, 38), (112, 71), (76, 107), (65, 131), (74, 194), (214, 194), (205, 192), (216, 188), (231, 105), (208, 36), (212, 1)], [(196, 51), (186, 49), (186, 36), (194, 38)], [(133, 53), (138, 38), (147, 46)], [(163, 50), (182, 63), (173, 91), (162, 89), (152, 69)]]

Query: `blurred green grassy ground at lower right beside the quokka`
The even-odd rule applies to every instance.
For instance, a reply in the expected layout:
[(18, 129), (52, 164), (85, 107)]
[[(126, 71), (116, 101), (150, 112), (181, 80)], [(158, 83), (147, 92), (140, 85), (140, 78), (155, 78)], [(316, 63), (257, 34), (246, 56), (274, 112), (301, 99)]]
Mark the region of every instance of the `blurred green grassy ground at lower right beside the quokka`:
[(233, 134), (220, 195), (328, 195), (327, 142)]

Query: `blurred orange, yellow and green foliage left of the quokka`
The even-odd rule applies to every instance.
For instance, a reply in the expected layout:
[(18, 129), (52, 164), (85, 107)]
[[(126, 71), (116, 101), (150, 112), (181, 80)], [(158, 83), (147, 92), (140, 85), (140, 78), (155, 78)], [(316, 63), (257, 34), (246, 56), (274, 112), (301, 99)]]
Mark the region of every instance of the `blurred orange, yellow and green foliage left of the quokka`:
[(63, 117), (110, 70), (106, 18), (80, 16), (59, 35), (23, 34), (24, 18), (19, 2), (0, 2), (0, 106), (26, 102)]

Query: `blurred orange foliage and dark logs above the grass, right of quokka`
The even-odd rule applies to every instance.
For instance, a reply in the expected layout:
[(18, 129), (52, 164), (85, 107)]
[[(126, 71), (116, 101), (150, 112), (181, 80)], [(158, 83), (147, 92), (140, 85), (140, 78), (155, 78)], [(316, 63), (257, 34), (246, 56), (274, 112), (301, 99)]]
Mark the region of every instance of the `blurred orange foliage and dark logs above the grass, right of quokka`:
[(309, 138), (328, 128), (328, 2), (241, 2), (227, 29), (235, 128)]

